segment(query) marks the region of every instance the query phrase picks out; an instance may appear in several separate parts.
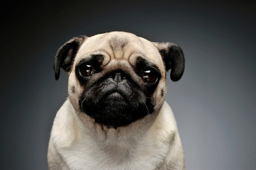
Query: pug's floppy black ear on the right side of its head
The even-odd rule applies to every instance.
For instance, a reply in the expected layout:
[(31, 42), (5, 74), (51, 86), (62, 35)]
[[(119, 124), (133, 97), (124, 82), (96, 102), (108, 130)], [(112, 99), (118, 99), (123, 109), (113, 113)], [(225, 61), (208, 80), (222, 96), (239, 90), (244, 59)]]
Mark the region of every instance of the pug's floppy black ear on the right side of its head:
[(171, 42), (153, 42), (153, 44), (162, 55), (166, 70), (171, 69), (172, 81), (178, 81), (182, 78), (185, 60), (181, 47)]

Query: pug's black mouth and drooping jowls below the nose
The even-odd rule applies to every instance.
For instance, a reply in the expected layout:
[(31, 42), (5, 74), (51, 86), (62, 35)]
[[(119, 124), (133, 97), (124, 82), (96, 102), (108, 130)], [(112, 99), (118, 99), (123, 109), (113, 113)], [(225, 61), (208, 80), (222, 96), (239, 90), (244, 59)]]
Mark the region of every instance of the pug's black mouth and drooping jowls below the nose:
[(146, 101), (143, 93), (127, 86), (111, 84), (99, 92), (91, 92), (88, 96), (84, 94), (79, 101), (80, 108), (96, 123), (112, 128), (129, 125), (152, 113), (152, 108), (146, 104), (150, 101)]

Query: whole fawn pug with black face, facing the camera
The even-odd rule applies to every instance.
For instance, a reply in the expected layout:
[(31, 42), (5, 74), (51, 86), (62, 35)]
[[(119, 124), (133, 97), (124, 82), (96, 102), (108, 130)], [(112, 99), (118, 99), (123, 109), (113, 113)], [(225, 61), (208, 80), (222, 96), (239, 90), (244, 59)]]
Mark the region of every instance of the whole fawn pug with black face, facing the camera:
[(69, 72), (68, 98), (55, 117), (49, 169), (185, 169), (166, 74), (184, 72), (182, 49), (132, 33), (79, 36), (55, 57)]

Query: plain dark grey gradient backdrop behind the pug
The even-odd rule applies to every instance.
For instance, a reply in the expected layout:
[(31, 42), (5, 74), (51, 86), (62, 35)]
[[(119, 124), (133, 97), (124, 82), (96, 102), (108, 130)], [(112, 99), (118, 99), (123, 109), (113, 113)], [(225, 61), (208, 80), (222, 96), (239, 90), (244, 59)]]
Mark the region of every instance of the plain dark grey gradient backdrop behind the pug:
[(47, 169), (67, 73), (55, 52), (76, 35), (123, 30), (184, 50), (167, 102), (187, 169), (255, 169), (255, 4), (245, 1), (11, 1), (1, 4), (0, 169)]

